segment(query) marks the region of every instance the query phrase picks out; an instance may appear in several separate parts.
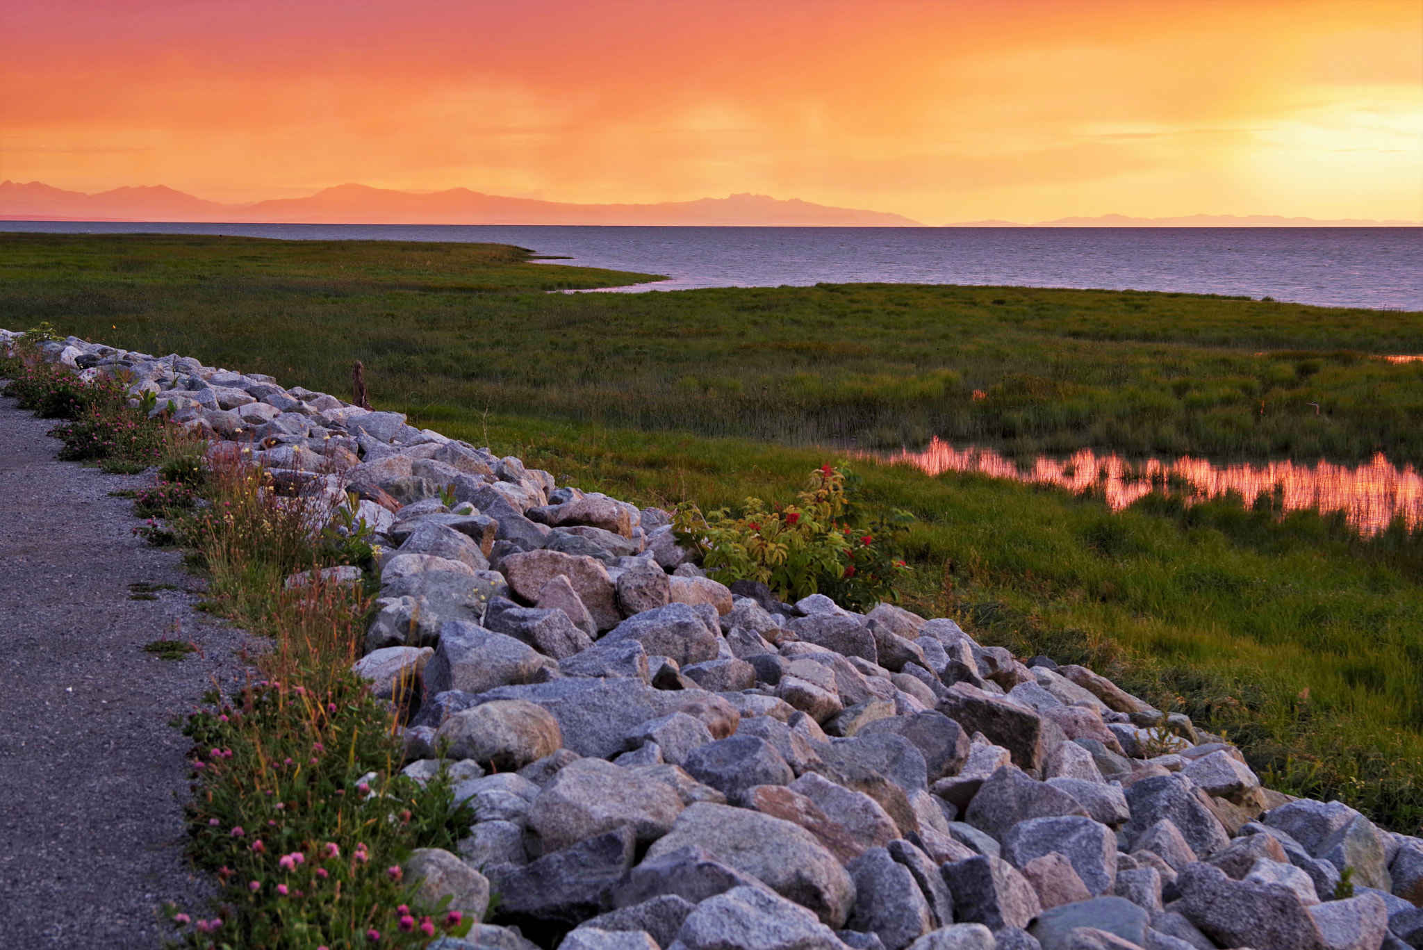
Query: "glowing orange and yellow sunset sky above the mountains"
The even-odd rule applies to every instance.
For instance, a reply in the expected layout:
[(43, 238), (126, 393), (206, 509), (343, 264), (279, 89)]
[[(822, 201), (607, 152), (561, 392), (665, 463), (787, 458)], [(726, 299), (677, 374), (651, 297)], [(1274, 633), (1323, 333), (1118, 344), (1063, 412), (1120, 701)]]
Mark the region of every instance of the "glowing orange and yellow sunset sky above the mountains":
[(1423, 3), (0, 0), (0, 178), (1423, 219)]

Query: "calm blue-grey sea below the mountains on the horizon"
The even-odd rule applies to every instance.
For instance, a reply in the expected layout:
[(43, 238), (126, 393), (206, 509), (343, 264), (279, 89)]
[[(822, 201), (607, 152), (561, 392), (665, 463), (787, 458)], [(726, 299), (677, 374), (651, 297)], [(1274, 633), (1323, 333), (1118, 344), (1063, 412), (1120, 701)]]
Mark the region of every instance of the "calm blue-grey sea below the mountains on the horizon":
[(1423, 309), (1423, 228), (565, 228), (7, 221), (6, 231), (495, 241), (670, 281), (630, 289), (818, 282), (1187, 291)]

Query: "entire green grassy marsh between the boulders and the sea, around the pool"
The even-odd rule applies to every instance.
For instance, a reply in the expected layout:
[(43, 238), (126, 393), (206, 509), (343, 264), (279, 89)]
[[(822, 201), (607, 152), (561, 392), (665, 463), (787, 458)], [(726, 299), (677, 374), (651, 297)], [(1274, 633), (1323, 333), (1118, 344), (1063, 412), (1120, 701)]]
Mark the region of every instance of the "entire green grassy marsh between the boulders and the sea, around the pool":
[[(899, 285), (551, 295), (635, 278), (487, 245), (199, 236), (0, 235), (0, 276), (7, 329), (47, 319), (347, 396), (361, 359), (381, 407), (642, 503), (784, 501), (832, 457), (810, 442), (929, 433), (1423, 454), (1423, 369), (1369, 359), (1423, 353), (1419, 313)], [(1423, 822), (1423, 533), (862, 473), (919, 518), (908, 605), (1107, 671), (1229, 732), (1276, 788)]]

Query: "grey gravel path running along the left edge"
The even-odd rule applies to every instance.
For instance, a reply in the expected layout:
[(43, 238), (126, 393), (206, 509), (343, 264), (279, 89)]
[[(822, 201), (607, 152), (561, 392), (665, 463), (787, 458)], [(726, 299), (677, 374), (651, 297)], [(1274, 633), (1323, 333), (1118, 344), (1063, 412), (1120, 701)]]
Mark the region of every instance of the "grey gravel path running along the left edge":
[[(0, 947), (158, 947), (161, 909), (205, 909), (182, 855), (186, 741), (168, 722), (245, 677), (242, 631), (194, 610), (199, 581), (131, 534), (151, 476), (57, 461), (0, 399)], [(129, 584), (174, 584), (129, 600)], [(165, 661), (144, 644), (181, 637)]]

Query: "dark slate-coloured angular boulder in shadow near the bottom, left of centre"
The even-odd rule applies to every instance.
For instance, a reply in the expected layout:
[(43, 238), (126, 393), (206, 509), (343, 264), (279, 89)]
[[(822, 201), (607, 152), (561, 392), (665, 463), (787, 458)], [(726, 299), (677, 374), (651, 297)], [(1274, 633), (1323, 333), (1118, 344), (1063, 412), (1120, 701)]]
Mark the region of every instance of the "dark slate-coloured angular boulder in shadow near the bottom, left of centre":
[(524, 867), (491, 866), (499, 893), (498, 920), (548, 941), (605, 910), (610, 892), (632, 867), (638, 836), (628, 826), (589, 837)]

